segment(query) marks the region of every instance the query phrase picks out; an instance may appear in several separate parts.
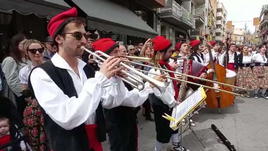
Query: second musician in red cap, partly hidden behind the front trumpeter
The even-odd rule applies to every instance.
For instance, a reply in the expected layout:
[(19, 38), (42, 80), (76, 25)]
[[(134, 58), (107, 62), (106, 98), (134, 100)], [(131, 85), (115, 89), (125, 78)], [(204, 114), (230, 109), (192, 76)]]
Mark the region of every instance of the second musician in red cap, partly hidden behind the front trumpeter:
[[(119, 45), (111, 38), (102, 38), (94, 42), (92, 47), (94, 50), (99, 50), (109, 56), (120, 56), (118, 52)], [(161, 80), (158, 77), (164, 77), (164, 75), (154, 78)], [(119, 80), (117, 77), (111, 77), (111, 79)], [(136, 114), (140, 109), (139, 106), (146, 101), (148, 95), (153, 93), (153, 90), (148, 82), (145, 83), (146, 87), (141, 91), (132, 88), (130, 84), (123, 83), (123, 88), (125, 88), (124, 101), (120, 106), (104, 110), (106, 130), (111, 151), (136, 151), (138, 149)]]

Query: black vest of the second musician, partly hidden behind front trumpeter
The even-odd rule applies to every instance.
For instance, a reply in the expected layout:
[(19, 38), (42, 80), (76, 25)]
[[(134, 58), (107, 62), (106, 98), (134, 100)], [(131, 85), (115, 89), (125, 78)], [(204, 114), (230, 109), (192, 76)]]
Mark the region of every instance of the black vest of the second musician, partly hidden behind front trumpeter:
[[(131, 85), (125, 83), (125, 87), (131, 91), (133, 88)], [(129, 107), (129, 106), (117, 106), (112, 109), (105, 109), (105, 120), (108, 122), (117, 122), (117, 123), (128, 123), (133, 120), (136, 120), (137, 113), (140, 110), (140, 107)], [(107, 125), (108, 126), (108, 125)]]

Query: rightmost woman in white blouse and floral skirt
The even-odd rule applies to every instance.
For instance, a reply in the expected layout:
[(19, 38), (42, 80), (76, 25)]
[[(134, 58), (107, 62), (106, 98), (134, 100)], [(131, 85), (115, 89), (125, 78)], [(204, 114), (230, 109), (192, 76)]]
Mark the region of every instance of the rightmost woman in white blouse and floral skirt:
[(259, 53), (252, 56), (251, 62), (254, 63), (254, 67), (252, 68), (252, 87), (254, 88), (254, 98), (258, 98), (258, 89), (262, 88), (262, 97), (268, 99), (268, 96), (265, 95), (268, 88), (268, 55), (266, 53), (266, 49), (267, 45), (262, 44), (259, 46)]

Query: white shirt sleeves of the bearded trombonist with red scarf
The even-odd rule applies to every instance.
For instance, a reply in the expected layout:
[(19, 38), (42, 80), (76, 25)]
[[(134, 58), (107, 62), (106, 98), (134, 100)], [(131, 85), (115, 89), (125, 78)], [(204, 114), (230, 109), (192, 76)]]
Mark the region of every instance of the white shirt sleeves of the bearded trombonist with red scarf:
[[(160, 70), (155, 71), (154, 69), (151, 69), (150, 73), (154, 73), (157, 75), (162, 74)], [(153, 78), (156, 76), (154, 74), (148, 74), (148, 76)], [(170, 82), (170, 83), (164, 93), (160, 92), (157, 88), (153, 88), (153, 93), (158, 99), (162, 100), (164, 104), (167, 104), (171, 108), (171, 107), (174, 107), (175, 102), (176, 102), (174, 98), (175, 90), (174, 90), (173, 82), (169, 78), (167, 78), (167, 80), (168, 80), (167, 82)]]

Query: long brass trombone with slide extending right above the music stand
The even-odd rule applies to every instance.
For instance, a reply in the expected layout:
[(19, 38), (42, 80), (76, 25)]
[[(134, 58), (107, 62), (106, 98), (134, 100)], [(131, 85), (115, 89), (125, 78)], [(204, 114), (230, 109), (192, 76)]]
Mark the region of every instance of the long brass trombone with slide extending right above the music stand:
[[(240, 90), (245, 91), (246, 94), (243, 94), (242, 95), (242, 94), (238, 94), (238, 93), (234, 93), (234, 92), (229, 92), (229, 91), (226, 91), (226, 90), (222, 90), (222, 89), (219, 89), (219, 88), (214, 88), (214, 87), (210, 87), (210, 86), (206, 86), (206, 85), (202, 85), (202, 84), (198, 84), (198, 83), (194, 83), (194, 82), (190, 82), (190, 81), (185, 81), (185, 80), (182, 80), (182, 79), (179, 79), (179, 78), (175, 78), (175, 77), (165, 76), (166, 78), (170, 78), (172, 80), (186, 82), (186, 83), (194, 84), (194, 85), (197, 85), (197, 86), (203, 86), (204, 88), (209, 88), (209, 89), (213, 89), (213, 90), (217, 90), (217, 91), (229, 93), (229, 94), (232, 94), (232, 95), (239, 95), (241, 97), (244, 97), (244, 96), (246, 96), (246, 95), (249, 94), (249, 90), (247, 90), (245, 88), (240, 88), (240, 87), (237, 87), (237, 86), (234, 86), (234, 85), (225, 84), (225, 83), (221, 83), (221, 82), (218, 82), (218, 81), (212, 81), (212, 80), (208, 80), (208, 79), (204, 79), (204, 78), (200, 78), (200, 77), (195, 77), (195, 76), (188, 75), (188, 74), (182, 74), (182, 73), (179, 73), (179, 72), (175, 72), (175, 71), (171, 71), (171, 70), (166, 70), (166, 69), (162, 69), (162, 68), (159, 68), (159, 67), (152, 67), (152, 66), (149, 66), (149, 65), (144, 65), (144, 64), (141, 64), (141, 63), (136, 63), (136, 62), (132, 62), (132, 61), (126, 60), (126, 59), (133, 59), (133, 60), (140, 60), (140, 61), (143, 61), (143, 62), (151, 63), (151, 61), (153, 60), (151, 58), (135, 57), (135, 56), (121, 56), (121, 57), (125, 58), (125, 60), (123, 59), (124, 62), (129, 62), (129, 63), (137, 64), (137, 65), (144, 66), (144, 67), (153, 68), (155, 70), (160, 70), (160, 71), (164, 71), (164, 72), (168, 72), (168, 73), (179, 74), (179, 75), (182, 75), (182, 76), (190, 77), (190, 78), (193, 78), (193, 79), (198, 79), (198, 80), (201, 80), (201, 81), (210, 82), (210, 83), (213, 83), (213, 84), (216, 83), (216, 84), (228, 86), (228, 87), (231, 87), (231, 88), (237, 88), (237, 89), (240, 89)], [(153, 63), (153, 64), (155, 64), (155, 63)], [(139, 69), (136, 69), (136, 70), (139, 70)], [(146, 72), (146, 73), (149, 73), (149, 74), (154, 74), (154, 73), (151, 73), (151, 72), (148, 72), (148, 71), (144, 71), (144, 70), (139, 70), (139, 71)], [(157, 75), (157, 74), (154, 74), (154, 75)]]

